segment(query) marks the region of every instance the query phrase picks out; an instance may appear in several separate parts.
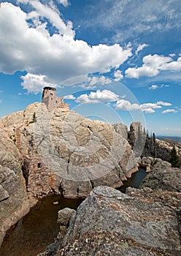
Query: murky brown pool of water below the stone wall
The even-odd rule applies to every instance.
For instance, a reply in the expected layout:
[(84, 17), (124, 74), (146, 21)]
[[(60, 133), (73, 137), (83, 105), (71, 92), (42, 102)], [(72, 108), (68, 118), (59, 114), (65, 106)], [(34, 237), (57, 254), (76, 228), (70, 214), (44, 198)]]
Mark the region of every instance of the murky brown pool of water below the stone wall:
[[(58, 202), (54, 205), (53, 202)], [(45, 250), (58, 235), (58, 211), (69, 207), (76, 209), (82, 200), (65, 199), (59, 195), (50, 195), (39, 200), (25, 217), (7, 231), (1, 256), (34, 256)]]

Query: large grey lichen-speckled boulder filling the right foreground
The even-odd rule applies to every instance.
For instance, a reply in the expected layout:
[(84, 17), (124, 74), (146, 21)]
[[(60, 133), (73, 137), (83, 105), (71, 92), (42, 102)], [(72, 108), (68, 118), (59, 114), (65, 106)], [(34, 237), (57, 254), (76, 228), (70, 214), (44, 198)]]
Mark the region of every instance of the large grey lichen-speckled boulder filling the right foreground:
[[(129, 189), (125, 195), (96, 187), (77, 209), (63, 240), (43, 255), (180, 255), (174, 209), (179, 203), (169, 200), (166, 206), (152, 193)], [(180, 193), (174, 194), (177, 202)]]

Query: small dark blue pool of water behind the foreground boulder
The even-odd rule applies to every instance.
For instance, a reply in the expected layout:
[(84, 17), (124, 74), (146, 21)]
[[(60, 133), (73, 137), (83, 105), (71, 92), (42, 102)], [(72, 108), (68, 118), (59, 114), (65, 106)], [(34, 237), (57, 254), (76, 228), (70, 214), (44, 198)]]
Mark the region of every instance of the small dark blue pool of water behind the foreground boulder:
[(143, 168), (139, 168), (139, 170), (136, 173), (133, 173), (131, 178), (128, 178), (127, 181), (124, 181), (123, 186), (118, 189), (123, 193), (126, 192), (127, 187), (134, 187), (138, 189), (145, 176), (147, 176), (146, 170)]

